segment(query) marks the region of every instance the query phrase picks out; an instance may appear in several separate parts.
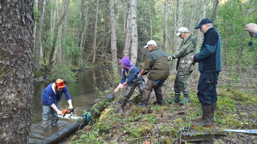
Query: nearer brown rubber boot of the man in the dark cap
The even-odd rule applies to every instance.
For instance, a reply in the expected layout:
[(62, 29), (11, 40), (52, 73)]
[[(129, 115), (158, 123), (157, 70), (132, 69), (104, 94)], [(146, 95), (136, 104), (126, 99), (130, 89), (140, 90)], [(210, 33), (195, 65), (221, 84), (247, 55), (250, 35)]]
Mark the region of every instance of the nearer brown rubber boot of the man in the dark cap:
[(194, 124), (192, 124), (192, 126), (193, 127), (203, 126), (206, 128), (211, 128), (212, 122), (210, 121), (210, 111), (211, 111), (211, 105), (203, 106), (203, 116), (201, 121), (195, 122)]

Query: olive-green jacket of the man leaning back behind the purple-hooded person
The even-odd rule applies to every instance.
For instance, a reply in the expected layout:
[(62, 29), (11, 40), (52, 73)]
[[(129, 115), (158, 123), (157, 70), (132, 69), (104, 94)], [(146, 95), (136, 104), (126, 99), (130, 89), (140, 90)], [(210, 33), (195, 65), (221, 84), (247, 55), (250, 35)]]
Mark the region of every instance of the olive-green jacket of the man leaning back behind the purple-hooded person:
[(170, 74), (170, 66), (166, 54), (157, 47), (148, 53), (143, 69), (150, 70), (149, 80), (166, 80)]

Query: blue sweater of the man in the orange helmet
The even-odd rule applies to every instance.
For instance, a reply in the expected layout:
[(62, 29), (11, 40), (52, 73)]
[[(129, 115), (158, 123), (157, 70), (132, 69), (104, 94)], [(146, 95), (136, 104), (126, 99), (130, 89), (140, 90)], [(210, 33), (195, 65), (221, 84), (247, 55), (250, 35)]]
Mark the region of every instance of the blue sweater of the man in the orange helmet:
[[(64, 93), (67, 101), (71, 99), (66, 86), (62, 88), (62, 90), (60, 91), (60, 95), (56, 96), (56, 99), (61, 100), (63, 93)], [(52, 84), (48, 85), (42, 93), (42, 97), (41, 97), (42, 105), (43, 106), (47, 106), (47, 105), (51, 106), (52, 104), (54, 104), (55, 103), (54, 96), (55, 96), (55, 89), (54, 89), (54, 83), (52, 83)]]

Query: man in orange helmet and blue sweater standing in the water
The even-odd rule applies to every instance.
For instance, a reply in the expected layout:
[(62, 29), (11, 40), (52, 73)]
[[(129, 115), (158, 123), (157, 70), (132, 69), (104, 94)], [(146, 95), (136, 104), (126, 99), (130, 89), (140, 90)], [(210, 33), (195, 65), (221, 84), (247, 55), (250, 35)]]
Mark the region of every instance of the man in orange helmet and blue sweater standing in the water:
[(62, 115), (62, 111), (60, 111), (59, 101), (62, 98), (62, 94), (64, 93), (66, 100), (69, 104), (69, 109), (73, 109), (71, 104), (71, 97), (69, 95), (68, 89), (65, 86), (65, 82), (62, 79), (57, 79), (55, 83), (48, 85), (43, 93), (42, 93), (42, 106), (43, 106), (43, 129), (48, 129), (48, 122), (50, 116), (52, 115), (52, 126), (57, 126), (57, 121), (59, 120), (58, 115)]

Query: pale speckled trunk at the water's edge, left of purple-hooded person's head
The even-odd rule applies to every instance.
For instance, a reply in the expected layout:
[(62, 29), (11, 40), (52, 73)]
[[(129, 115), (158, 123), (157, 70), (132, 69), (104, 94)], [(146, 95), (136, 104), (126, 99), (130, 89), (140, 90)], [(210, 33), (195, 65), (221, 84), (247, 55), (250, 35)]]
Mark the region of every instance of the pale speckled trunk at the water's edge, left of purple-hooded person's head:
[(112, 62), (115, 68), (118, 68), (117, 63), (117, 37), (116, 37), (116, 21), (114, 13), (114, 4), (113, 0), (109, 0), (109, 15), (110, 15), (110, 24), (111, 24), (111, 52), (112, 52)]

